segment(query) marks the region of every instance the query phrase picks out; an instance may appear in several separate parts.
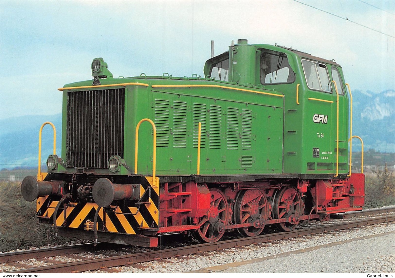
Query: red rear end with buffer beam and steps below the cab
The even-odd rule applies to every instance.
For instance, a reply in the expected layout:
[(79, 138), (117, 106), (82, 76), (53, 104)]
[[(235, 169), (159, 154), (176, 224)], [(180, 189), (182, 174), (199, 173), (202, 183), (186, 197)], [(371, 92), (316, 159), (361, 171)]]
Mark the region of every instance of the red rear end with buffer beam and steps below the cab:
[(365, 175), (346, 180), (318, 180), (311, 194), (318, 214), (361, 210), (365, 203)]

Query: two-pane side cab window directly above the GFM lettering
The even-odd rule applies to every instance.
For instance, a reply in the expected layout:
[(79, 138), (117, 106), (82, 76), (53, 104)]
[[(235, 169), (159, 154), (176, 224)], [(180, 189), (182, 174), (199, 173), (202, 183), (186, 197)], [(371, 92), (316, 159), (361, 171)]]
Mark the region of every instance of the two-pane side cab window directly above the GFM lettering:
[(332, 92), (328, 70), (324, 64), (302, 59), (302, 66), (308, 88), (328, 93)]

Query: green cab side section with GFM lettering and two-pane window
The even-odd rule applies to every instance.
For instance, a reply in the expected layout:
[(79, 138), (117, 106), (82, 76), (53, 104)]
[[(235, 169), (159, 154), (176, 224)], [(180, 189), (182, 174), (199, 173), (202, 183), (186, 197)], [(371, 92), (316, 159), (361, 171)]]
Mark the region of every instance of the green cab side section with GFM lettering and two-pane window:
[(307, 90), (304, 100), (303, 165), (306, 173), (336, 171), (337, 103), (324, 63), (301, 59)]

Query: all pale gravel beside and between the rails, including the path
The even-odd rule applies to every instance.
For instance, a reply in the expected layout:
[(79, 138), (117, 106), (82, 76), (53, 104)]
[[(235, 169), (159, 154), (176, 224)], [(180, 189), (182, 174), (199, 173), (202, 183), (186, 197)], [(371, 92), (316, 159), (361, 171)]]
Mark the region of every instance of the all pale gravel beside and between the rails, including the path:
[[(359, 218), (361, 219), (361, 218)], [(330, 222), (340, 220), (331, 219)], [(324, 223), (316, 222), (312, 225)], [(326, 246), (329, 244), (329, 246)], [(325, 246), (323, 246), (325, 245)], [(138, 248), (137, 248), (138, 249)], [(182, 273), (182, 272), (341, 272), (341, 273), (389, 273), (395, 271), (395, 222), (308, 235), (294, 239), (251, 244), (242, 248), (205, 252), (203, 254), (171, 257), (164, 260), (136, 263), (124, 267), (111, 267), (123, 273)], [(138, 250), (137, 250), (138, 251)], [(100, 258), (114, 254), (127, 254), (120, 250), (84, 252), (78, 257)], [(49, 260), (69, 261), (57, 256)], [(78, 259), (74, 258), (72, 261)], [(28, 265), (45, 265), (44, 261), (23, 261)], [(50, 263), (51, 264), (51, 263)], [(0, 264), (1, 271), (16, 270)], [(105, 273), (105, 269), (86, 273)]]

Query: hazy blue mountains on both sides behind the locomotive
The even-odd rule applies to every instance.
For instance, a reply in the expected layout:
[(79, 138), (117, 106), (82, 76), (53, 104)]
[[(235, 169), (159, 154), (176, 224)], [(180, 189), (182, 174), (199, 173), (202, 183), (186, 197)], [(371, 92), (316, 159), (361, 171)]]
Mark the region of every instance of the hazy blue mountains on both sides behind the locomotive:
[[(353, 135), (363, 138), (365, 151), (395, 152), (395, 90), (375, 93), (354, 90)], [(56, 153), (61, 152), (62, 115), (33, 115), (0, 120), (0, 169), (35, 167), (38, 163), (38, 137), (43, 122), (56, 130)], [(53, 131), (43, 128), (41, 163), (53, 152)], [(361, 150), (354, 139), (353, 151)]]

